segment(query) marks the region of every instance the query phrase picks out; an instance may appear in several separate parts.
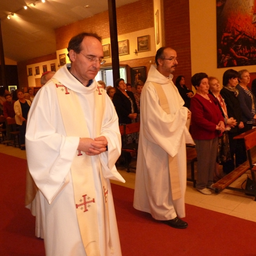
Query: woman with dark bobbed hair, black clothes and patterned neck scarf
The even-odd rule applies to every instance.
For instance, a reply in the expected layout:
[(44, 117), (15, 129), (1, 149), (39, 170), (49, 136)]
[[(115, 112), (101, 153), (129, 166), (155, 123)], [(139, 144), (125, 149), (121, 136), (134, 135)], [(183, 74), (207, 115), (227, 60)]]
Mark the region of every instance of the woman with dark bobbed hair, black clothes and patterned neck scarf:
[[(239, 91), (236, 89), (236, 85), (238, 83), (238, 72), (233, 69), (226, 70), (223, 74), (223, 88), (220, 91), (222, 98), (224, 99), (227, 105), (227, 115), (229, 117), (233, 117), (236, 119), (237, 125), (235, 125), (229, 131), (229, 144), (230, 144), (230, 154), (231, 160), (230, 162), (223, 163), (223, 171), (225, 173), (230, 173), (235, 169), (234, 163), (234, 155), (236, 154), (236, 167), (241, 163), (246, 161), (246, 152), (245, 148), (242, 145), (243, 142), (239, 142), (238, 140), (234, 140), (233, 138), (242, 132), (242, 128), (244, 128), (244, 123), (242, 122), (242, 112), (238, 100)], [(239, 146), (241, 145), (241, 146)]]

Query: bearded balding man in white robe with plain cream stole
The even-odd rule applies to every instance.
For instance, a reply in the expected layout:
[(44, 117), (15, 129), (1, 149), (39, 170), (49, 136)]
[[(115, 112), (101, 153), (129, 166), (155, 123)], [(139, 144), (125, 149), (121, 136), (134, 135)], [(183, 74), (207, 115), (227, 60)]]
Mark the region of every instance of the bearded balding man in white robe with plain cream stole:
[(180, 218), (185, 217), (186, 143), (194, 144), (186, 126), (190, 112), (172, 82), (175, 50), (158, 49), (156, 63), (141, 93), (134, 208), (186, 228)]

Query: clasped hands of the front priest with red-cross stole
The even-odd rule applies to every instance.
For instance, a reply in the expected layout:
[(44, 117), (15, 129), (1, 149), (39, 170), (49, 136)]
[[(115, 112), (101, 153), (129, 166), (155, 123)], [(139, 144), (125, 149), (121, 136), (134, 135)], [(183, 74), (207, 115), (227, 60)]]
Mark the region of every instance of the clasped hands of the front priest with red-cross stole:
[(91, 138), (80, 138), (77, 150), (85, 152), (88, 156), (95, 156), (107, 150), (108, 141), (105, 136), (100, 136), (94, 140)]

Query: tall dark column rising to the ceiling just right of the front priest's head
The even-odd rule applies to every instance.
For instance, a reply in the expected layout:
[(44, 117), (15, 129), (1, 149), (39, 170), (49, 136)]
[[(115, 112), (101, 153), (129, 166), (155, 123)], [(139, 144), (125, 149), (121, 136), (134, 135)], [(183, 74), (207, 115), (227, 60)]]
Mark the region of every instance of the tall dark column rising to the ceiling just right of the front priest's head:
[(108, 0), (108, 16), (111, 41), (111, 58), (113, 67), (113, 82), (120, 78), (119, 73), (119, 54), (116, 23), (116, 0)]

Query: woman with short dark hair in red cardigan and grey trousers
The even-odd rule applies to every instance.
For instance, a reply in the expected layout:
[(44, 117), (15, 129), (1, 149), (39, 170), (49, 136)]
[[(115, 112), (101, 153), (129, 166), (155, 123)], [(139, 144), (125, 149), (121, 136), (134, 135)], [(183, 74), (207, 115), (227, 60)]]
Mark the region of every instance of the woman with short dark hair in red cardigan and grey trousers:
[(206, 73), (196, 73), (191, 78), (196, 94), (191, 99), (191, 135), (197, 152), (196, 189), (204, 195), (211, 195), (217, 157), (218, 135), (225, 130), (216, 99), (208, 94), (209, 84)]

